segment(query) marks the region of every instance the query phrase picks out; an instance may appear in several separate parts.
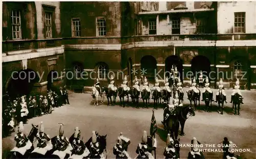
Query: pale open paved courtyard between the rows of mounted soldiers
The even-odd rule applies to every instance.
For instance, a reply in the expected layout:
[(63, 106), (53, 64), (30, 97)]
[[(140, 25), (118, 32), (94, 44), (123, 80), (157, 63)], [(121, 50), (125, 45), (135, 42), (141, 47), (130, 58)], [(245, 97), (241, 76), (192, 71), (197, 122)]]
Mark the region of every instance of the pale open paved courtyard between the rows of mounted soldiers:
[[(216, 92), (216, 90), (215, 90)], [(231, 90), (226, 90), (228, 101), (230, 100)], [(230, 104), (227, 103), (224, 115), (216, 111), (210, 113), (198, 110), (196, 116), (186, 121), (184, 131), (186, 135), (180, 137), (181, 144), (189, 144), (193, 137), (196, 137), (202, 144), (218, 144), (224, 137), (237, 144), (237, 148), (248, 148), (251, 152), (240, 153), (243, 158), (256, 158), (256, 92), (242, 91), (244, 95), (244, 105), (242, 106), (241, 116), (234, 116), (231, 113)], [(184, 96), (185, 103), (188, 103)], [(118, 100), (119, 101), (119, 100)], [(142, 101), (140, 101), (142, 102)], [(116, 143), (119, 132), (131, 139), (128, 152), (132, 157), (136, 156), (137, 144), (141, 142), (143, 130), (150, 132), (152, 108), (136, 109), (131, 106), (125, 108), (108, 107), (101, 104), (98, 107), (92, 105), (92, 98), (89, 94), (70, 94), (70, 105), (56, 108), (50, 115), (29, 120), (25, 125), (25, 134), (31, 129), (31, 124), (38, 124), (43, 121), (45, 132), (51, 137), (56, 135), (59, 130), (57, 123), (65, 124), (65, 135), (69, 138), (74, 132), (74, 127), (78, 126), (81, 136), (87, 141), (92, 131), (96, 130), (100, 134), (108, 134), (107, 149), (108, 158), (114, 158), (113, 146)], [(203, 102), (201, 102), (203, 105)], [(216, 105), (215, 103), (213, 105)], [(202, 109), (202, 108), (201, 108)], [(163, 158), (165, 147), (166, 132), (162, 130), (163, 109), (155, 110), (157, 120), (157, 158)], [(15, 145), (14, 133), (11, 137), (3, 139), (3, 155)], [(218, 149), (218, 148), (217, 148)], [(181, 158), (186, 158), (190, 148), (181, 148)], [(221, 158), (221, 152), (204, 152), (206, 158)], [(4, 158), (4, 156), (3, 156)]]

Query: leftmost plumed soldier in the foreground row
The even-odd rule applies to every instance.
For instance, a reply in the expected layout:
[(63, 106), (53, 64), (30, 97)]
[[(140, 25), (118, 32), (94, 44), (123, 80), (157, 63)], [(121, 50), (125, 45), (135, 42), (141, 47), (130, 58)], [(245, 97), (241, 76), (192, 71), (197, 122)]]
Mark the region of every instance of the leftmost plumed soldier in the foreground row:
[(33, 146), (26, 135), (23, 133), (24, 125), (23, 122), (19, 122), (18, 133), (15, 134), (14, 140), (16, 141), (16, 147), (14, 147), (11, 151), (16, 151), (24, 155), (27, 150), (31, 149)]

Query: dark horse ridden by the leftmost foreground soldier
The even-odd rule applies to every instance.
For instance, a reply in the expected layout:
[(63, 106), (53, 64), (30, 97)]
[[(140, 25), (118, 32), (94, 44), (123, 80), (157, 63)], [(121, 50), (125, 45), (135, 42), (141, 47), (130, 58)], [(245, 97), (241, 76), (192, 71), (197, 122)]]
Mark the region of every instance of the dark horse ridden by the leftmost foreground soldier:
[(6, 158), (28, 158), (30, 153), (34, 150), (33, 143), (34, 143), (34, 138), (36, 137), (37, 132), (38, 132), (38, 125), (32, 124), (32, 129), (30, 130), (28, 135), (28, 139), (32, 143), (32, 146), (30, 147), (30, 149), (27, 150), (26, 152), (21, 152), (21, 151), (18, 151), (19, 148), (17, 149), (16, 147), (14, 147), (14, 149), (12, 149), (11, 152), (7, 154)]

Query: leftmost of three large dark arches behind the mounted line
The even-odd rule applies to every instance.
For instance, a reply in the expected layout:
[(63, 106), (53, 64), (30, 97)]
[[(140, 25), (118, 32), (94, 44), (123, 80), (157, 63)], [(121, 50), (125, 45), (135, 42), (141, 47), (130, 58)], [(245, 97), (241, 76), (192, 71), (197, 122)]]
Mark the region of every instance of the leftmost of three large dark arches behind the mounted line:
[(148, 80), (155, 80), (155, 70), (157, 69), (157, 60), (150, 55), (143, 56), (140, 60), (140, 69), (144, 69), (144, 75)]

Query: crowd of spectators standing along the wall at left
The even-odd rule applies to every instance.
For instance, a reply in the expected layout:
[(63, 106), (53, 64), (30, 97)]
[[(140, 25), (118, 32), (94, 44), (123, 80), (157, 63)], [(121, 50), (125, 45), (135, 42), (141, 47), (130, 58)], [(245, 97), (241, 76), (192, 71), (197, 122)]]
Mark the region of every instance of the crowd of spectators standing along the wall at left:
[(7, 102), (3, 105), (2, 116), (4, 136), (10, 135), (20, 121), (26, 123), (28, 119), (51, 113), (54, 107), (69, 104), (68, 94), (66, 87), (59, 87), (57, 91), (47, 90), (47, 96), (25, 95), (11, 101), (7, 93)]

